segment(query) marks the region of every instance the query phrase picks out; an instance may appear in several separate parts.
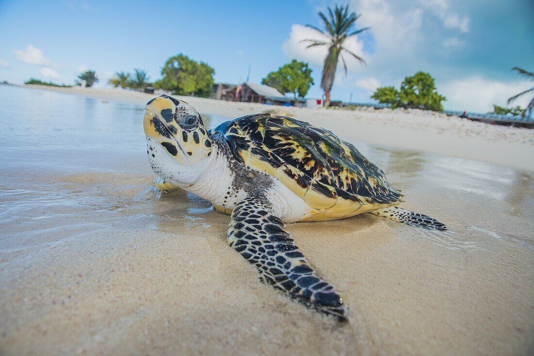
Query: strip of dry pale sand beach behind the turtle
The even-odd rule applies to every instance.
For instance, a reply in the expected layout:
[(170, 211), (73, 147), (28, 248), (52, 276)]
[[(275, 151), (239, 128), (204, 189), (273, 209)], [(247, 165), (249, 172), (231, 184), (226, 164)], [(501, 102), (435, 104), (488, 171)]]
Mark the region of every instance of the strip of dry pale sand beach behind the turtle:
[[(106, 88), (25, 85), (91, 98), (144, 105), (155, 95)], [(534, 171), (534, 130), (475, 122), (442, 113), (404, 109), (300, 108), (178, 96), (201, 113), (229, 119), (258, 112), (288, 115), (334, 131), (345, 140), (417, 150)], [(355, 129), (347, 130), (348, 127)]]

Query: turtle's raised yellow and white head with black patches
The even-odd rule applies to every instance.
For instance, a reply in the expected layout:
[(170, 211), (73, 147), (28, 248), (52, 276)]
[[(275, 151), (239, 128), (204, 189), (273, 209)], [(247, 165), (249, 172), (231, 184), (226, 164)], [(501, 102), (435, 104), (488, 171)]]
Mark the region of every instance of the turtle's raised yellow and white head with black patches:
[[(179, 181), (194, 180), (192, 176), (179, 179), (177, 174), (180, 172), (185, 178), (185, 172), (197, 171), (211, 156), (212, 142), (202, 117), (182, 100), (167, 95), (150, 100), (145, 106), (143, 126), (148, 159), (163, 179), (170, 180), (170, 176), (163, 175), (172, 174)], [(167, 174), (158, 172), (162, 170), (168, 171)]]

